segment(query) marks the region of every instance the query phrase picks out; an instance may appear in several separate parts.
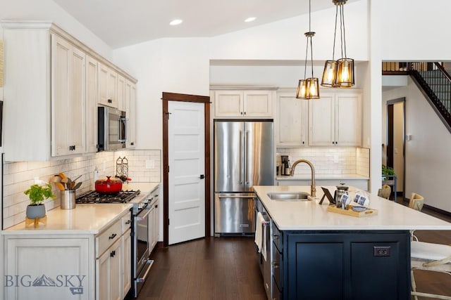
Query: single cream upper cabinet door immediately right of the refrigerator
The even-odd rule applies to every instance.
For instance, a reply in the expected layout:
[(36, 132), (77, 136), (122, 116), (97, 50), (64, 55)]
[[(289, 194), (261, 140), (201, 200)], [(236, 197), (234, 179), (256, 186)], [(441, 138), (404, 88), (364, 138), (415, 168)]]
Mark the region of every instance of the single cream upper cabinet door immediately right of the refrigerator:
[(276, 141), (278, 147), (307, 146), (309, 101), (296, 98), (296, 91), (277, 92)]

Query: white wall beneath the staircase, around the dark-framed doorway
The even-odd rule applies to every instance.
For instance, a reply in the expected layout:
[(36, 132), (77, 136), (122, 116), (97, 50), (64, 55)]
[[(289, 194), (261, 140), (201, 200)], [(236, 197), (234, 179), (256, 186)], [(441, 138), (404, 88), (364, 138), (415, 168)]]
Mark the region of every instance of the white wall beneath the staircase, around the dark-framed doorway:
[[(383, 92), (383, 100), (405, 97), (405, 195), (419, 193), (426, 204), (451, 211), (451, 135), (411, 79), (408, 85)], [(385, 119), (385, 115), (383, 115)]]

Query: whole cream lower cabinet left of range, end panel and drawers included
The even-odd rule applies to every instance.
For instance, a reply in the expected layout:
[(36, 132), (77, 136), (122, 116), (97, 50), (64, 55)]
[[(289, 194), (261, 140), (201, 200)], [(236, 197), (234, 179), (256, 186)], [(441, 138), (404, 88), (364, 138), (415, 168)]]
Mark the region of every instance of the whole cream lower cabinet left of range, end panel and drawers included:
[(99, 235), (4, 235), (4, 299), (124, 299), (132, 282), (130, 218), (128, 211)]

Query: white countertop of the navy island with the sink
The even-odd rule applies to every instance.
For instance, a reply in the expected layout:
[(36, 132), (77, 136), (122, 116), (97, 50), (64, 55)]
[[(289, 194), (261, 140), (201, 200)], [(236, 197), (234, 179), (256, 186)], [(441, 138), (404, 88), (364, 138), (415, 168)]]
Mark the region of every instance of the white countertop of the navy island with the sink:
[[(333, 195), (335, 186), (326, 186)], [(280, 230), (451, 230), (451, 223), (421, 213), (402, 204), (370, 194), (369, 207), (377, 209), (374, 216), (347, 216), (327, 211), (328, 200), (319, 204), (323, 197), (316, 186), (313, 201), (276, 201), (266, 195), (274, 192), (307, 192), (310, 186), (254, 186), (271, 219)], [(350, 187), (350, 195), (356, 189)]]

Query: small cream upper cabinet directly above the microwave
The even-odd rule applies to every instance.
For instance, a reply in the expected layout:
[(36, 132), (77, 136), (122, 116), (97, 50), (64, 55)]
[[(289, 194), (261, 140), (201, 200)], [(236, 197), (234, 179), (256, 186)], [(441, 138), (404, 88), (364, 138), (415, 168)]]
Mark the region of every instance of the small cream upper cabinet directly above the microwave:
[(118, 108), (118, 73), (99, 63), (99, 104)]

